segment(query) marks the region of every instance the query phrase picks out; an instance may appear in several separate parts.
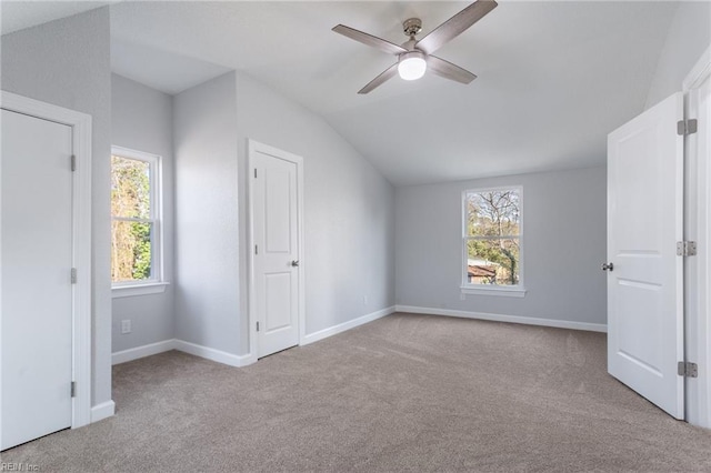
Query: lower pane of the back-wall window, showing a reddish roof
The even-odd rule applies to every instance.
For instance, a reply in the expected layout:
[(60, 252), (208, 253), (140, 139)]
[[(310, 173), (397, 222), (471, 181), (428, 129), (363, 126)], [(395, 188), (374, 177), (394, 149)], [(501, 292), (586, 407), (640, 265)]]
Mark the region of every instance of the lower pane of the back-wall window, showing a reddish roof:
[(519, 239), (467, 241), (467, 282), (519, 284)]

